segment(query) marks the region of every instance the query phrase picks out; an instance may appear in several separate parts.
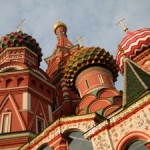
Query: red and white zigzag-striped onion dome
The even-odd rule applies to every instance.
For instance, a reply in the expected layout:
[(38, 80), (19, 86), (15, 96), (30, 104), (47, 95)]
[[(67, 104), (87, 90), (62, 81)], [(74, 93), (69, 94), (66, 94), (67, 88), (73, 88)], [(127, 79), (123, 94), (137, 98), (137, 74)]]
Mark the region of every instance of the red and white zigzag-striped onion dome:
[(148, 48), (150, 48), (150, 28), (127, 32), (126, 37), (119, 44), (117, 52), (117, 64), (120, 71), (123, 73), (124, 57), (133, 60)]

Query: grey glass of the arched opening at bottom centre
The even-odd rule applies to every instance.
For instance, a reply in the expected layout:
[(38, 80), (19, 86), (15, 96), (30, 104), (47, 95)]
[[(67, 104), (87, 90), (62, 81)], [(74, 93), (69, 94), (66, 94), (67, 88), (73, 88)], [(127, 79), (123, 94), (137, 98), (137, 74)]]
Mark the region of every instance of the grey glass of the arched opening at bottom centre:
[(93, 150), (92, 142), (85, 139), (82, 132), (72, 132), (68, 136), (72, 139), (69, 143), (69, 150)]

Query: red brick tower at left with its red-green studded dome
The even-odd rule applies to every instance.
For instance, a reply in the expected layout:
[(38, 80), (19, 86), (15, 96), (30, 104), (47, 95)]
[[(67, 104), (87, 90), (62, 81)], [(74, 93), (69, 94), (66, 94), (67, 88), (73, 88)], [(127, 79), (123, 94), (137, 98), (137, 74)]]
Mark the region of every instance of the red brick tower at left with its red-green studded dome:
[(22, 31), (0, 40), (0, 149), (17, 149), (52, 122), (55, 87), (39, 68), (41, 48)]

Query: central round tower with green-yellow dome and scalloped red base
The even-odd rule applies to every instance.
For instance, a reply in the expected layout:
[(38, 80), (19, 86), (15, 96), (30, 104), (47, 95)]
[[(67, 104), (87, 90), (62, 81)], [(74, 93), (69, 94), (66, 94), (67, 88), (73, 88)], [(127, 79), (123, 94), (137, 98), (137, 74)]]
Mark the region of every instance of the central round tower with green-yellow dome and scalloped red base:
[(76, 88), (81, 97), (77, 114), (97, 112), (106, 117), (118, 109), (122, 100), (114, 86), (117, 76), (118, 66), (104, 49), (82, 47), (70, 56), (65, 77), (68, 85)]

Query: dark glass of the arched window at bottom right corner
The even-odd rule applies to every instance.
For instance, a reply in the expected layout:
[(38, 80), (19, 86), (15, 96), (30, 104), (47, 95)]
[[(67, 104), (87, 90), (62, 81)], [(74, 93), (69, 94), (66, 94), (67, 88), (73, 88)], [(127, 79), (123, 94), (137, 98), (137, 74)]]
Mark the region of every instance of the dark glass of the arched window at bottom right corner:
[(136, 140), (125, 146), (124, 150), (148, 150), (145, 146), (146, 142), (142, 140)]

